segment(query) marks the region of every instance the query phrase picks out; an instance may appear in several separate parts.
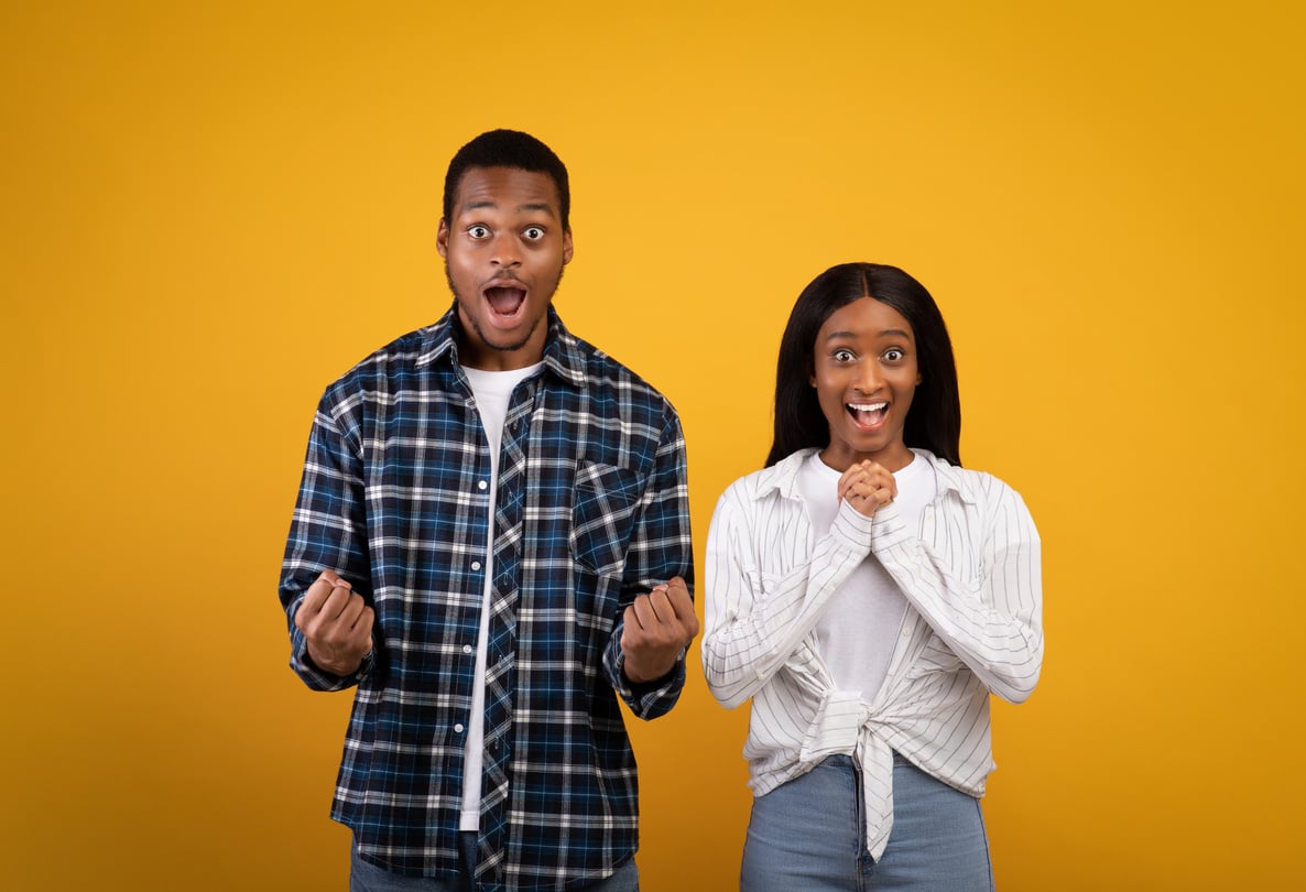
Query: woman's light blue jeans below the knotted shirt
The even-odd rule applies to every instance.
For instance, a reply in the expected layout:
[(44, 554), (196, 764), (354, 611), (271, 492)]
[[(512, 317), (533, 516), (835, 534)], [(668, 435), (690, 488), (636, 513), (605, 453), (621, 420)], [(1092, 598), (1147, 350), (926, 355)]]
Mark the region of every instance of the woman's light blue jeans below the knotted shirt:
[(849, 756), (831, 756), (754, 799), (742, 892), (993, 892), (978, 799), (895, 756), (893, 829), (875, 862), (861, 781)]

